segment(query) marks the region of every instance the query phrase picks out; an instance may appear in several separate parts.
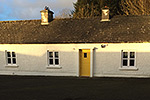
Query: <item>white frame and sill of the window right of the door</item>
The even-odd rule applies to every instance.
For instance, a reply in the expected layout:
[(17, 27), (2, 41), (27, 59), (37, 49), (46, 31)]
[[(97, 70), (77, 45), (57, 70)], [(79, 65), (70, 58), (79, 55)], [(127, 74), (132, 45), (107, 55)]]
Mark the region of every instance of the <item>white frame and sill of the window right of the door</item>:
[[(128, 53), (128, 58), (123, 58), (123, 52)], [(134, 58), (130, 58), (130, 52), (135, 53)], [(123, 66), (123, 60), (127, 60), (127, 66)], [(134, 66), (130, 66), (130, 60), (134, 60)], [(121, 50), (121, 67), (119, 68), (120, 70), (138, 70), (136, 67), (136, 51), (135, 50)]]

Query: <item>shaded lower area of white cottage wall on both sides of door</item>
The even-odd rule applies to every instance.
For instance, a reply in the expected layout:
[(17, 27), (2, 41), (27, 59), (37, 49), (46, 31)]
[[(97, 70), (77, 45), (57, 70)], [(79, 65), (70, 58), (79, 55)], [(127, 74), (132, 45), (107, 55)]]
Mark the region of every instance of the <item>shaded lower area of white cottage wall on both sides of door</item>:
[[(29, 72), (50, 72), (54, 74), (69, 73), (69, 75), (77, 74), (79, 63), (79, 51), (59, 51), (60, 69), (47, 69), (48, 57), (47, 49), (42, 52), (33, 52), (30, 54), (17, 53), (16, 59), (19, 67), (7, 68), (5, 51), (0, 51), (0, 70), (1, 71), (29, 71)], [(19, 51), (21, 52), (21, 51)], [(37, 56), (36, 56), (37, 55)], [(39, 56), (40, 55), (40, 56)], [(121, 71), (121, 51), (105, 52), (94, 50), (93, 52), (93, 73), (94, 75), (150, 75), (150, 52), (136, 52), (135, 65), (138, 71)]]

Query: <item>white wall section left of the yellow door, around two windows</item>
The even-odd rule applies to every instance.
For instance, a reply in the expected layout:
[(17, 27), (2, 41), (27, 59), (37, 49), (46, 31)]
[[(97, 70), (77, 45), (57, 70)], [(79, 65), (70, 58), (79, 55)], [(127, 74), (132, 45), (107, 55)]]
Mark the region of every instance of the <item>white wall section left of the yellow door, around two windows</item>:
[[(69, 45), (0, 45), (0, 74), (76, 76), (77, 53)], [(17, 55), (18, 68), (6, 67), (5, 50)], [(47, 50), (59, 51), (60, 69), (47, 68)]]

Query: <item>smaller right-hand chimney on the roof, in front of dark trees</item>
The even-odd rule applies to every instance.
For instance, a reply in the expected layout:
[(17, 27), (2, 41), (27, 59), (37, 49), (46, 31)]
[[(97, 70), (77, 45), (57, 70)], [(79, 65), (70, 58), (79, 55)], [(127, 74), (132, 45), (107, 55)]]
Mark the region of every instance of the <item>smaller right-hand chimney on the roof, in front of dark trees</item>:
[(109, 8), (105, 6), (102, 8), (102, 20), (101, 21), (110, 21), (109, 20)]

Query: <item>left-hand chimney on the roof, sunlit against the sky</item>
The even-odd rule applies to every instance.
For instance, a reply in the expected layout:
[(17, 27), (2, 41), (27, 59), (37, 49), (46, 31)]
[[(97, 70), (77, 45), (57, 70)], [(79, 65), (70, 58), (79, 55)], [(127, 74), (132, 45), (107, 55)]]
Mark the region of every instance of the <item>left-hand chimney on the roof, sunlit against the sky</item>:
[(41, 12), (41, 25), (48, 25), (53, 20), (53, 14), (49, 7), (45, 6), (45, 9)]

